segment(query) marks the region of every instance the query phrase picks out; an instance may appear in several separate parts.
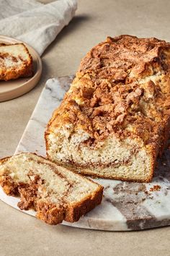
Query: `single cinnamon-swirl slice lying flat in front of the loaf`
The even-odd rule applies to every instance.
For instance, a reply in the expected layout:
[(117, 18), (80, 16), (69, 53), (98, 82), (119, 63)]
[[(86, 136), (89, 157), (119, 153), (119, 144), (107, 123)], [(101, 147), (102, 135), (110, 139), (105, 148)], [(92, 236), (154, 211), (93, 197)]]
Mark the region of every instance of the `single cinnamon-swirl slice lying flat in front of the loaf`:
[(2, 159), (0, 184), (6, 195), (20, 195), (21, 210), (35, 209), (48, 224), (79, 221), (103, 194), (99, 184), (32, 153)]

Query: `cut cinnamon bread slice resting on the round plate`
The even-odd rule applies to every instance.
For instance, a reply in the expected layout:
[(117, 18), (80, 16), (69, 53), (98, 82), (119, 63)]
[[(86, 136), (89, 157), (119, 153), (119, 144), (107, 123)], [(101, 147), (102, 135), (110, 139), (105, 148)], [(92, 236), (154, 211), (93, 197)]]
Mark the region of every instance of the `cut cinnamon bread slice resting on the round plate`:
[(0, 80), (30, 77), (32, 74), (32, 56), (23, 43), (0, 45)]

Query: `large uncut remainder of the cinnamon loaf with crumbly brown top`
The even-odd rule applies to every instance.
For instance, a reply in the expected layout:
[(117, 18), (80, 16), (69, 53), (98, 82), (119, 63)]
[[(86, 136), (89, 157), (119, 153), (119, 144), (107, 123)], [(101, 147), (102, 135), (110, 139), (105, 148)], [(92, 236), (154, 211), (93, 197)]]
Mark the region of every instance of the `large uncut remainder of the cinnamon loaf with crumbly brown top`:
[(169, 124), (170, 43), (107, 38), (81, 61), (48, 123), (48, 158), (81, 174), (150, 182)]

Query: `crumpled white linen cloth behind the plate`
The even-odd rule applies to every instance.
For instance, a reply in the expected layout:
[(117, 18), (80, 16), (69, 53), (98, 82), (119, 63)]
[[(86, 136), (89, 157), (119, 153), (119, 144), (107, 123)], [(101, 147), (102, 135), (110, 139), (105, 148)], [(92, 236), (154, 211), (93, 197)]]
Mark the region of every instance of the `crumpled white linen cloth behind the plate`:
[(42, 55), (76, 12), (76, 0), (41, 4), (35, 0), (0, 0), (0, 34), (28, 43)]

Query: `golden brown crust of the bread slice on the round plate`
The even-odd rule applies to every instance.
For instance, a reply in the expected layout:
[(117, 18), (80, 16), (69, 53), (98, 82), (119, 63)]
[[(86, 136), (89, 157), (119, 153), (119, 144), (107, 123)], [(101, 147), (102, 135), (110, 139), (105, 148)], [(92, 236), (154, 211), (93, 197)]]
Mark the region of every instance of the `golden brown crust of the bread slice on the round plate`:
[[(17, 45), (22, 45), (24, 46), (24, 43), (15, 43), (12, 45), (6, 45), (6, 48), (9, 46), (17, 46)], [(6, 50), (7, 51), (7, 50)], [(30, 52), (28, 51), (27, 47), (24, 46), (24, 51), (28, 54), (29, 60), (24, 61), (21, 56), (19, 57), (22, 60), (21, 67), (19, 69), (16, 69), (15, 67), (8, 67), (6, 68), (5, 66), (0, 67), (0, 80), (15, 80), (19, 77), (31, 77), (33, 74), (33, 61), (32, 61), (32, 56), (30, 55)], [(12, 58), (13, 62), (16, 62), (17, 59), (14, 56), (11, 56), (11, 54), (8, 54), (7, 52), (4, 54), (1, 53), (0, 49), (0, 60), (5, 59), (6, 57)]]

